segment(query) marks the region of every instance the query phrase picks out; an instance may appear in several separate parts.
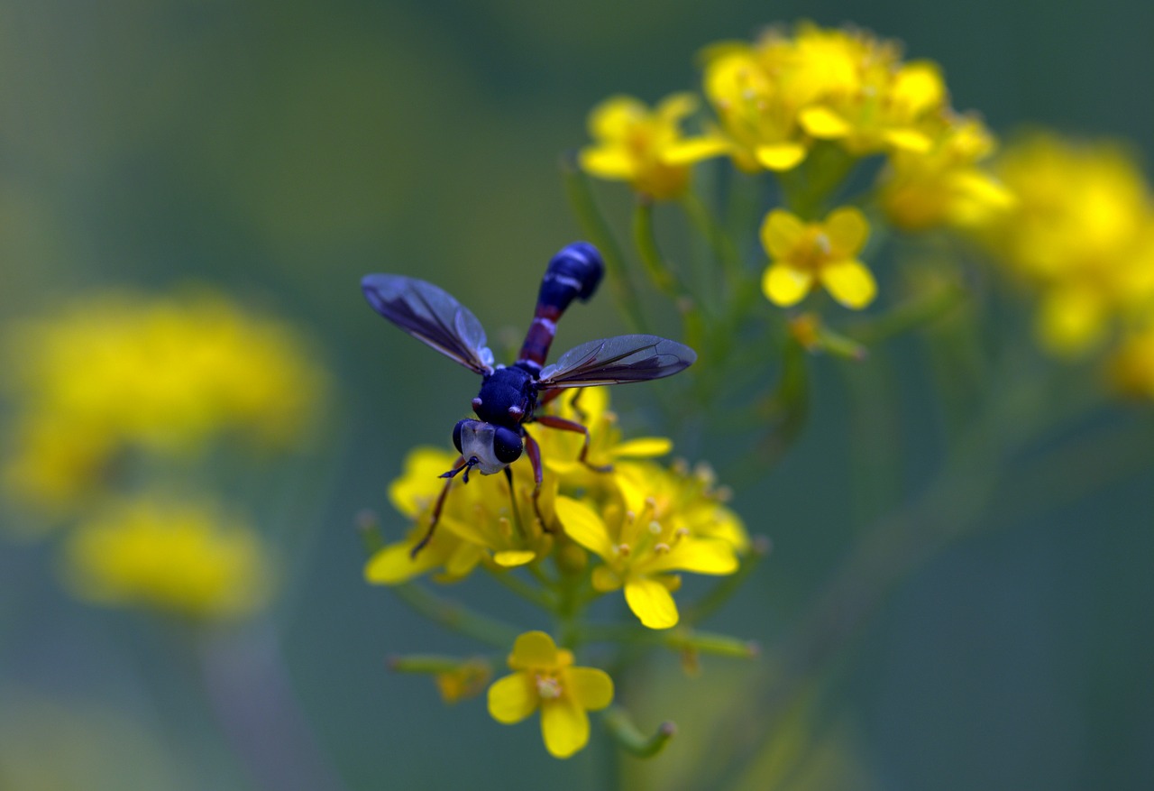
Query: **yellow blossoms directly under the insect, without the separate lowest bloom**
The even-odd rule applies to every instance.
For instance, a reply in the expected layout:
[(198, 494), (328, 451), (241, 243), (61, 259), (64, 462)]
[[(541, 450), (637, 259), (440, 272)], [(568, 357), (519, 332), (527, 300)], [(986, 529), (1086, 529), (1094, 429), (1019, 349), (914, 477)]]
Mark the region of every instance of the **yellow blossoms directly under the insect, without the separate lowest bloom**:
[[(572, 419), (572, 395), (549, 411)], [(590, 426), (590, 453), (577, 461), (582, 438), (567, 432), (537, 432), (545, 460), (542, 487), (534, 498), (532, 467), (522, 458), (510, 467), (514, 491), (503, 476), (475, 476), (454, 485), (444, 498), (432, 540), (413, 557), (428, 530), (444, 488), (439, 473), (457, 454), (417, 448), (389, 488), (394, 506), (413, 525), (404, 540), (377, 551), (365, 569), (377, 584), (399, 584), (436, 572), (459, 580), (479, 565), (504, 573), (539, 566), (559, 557), (567, 570), (582, 569), (592, 590), (624, 590), (630, 610), (650, 628), (677, 624), (670, 596), (677, 572), (725, 575), (737, 570), (749, 546), (741, 520), (722, 500), (707, 469), (662, 467), (647, 456), (667, 453), (659, 438), (619, 441), (615, 416), (601, 388), (583, 390), (579, 412)], [(600, 468), (604, 471), (599, 471)], [(587, 553), (597, 562), (589, 564)]]

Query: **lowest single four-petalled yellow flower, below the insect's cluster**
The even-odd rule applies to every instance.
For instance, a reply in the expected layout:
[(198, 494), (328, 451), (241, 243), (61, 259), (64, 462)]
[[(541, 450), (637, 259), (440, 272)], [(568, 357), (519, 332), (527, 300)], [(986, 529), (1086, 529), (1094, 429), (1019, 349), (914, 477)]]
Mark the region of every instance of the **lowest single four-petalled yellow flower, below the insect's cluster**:
[(613, 679), (595, 667), (575, 667), (574, 655), (544, 632), (527, 632), (514, 644), (516, 672), (489, 687), (489, 715), (512, 725), (541, 711), (541, 736), (554, 758), (569, 758), (589, 744), (589, 715), (613, 702)]

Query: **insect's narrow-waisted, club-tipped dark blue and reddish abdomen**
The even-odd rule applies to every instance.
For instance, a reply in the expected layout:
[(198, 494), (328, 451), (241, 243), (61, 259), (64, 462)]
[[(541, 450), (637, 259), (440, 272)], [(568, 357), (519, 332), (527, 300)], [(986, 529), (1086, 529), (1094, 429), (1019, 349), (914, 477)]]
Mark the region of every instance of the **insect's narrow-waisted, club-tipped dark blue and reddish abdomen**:
[(553, 256), (545, 277), (541, 278), (541, 290), (537, 296), (537, 309), (533, 322), (525, 335), (517, 363), (522, 368), (534, 373), (545, 365), (549, 355), (549, 345), (557, 330), (557, 320), (574, 299), (587, 300), (597, 291), (605, 275), (605, 263), (597, 247), (587, 241), (575, 241), (565, 245)]

